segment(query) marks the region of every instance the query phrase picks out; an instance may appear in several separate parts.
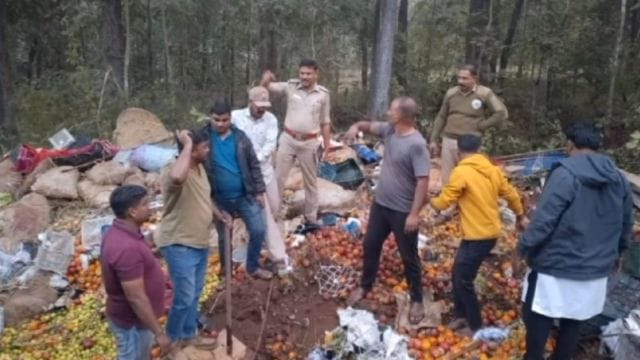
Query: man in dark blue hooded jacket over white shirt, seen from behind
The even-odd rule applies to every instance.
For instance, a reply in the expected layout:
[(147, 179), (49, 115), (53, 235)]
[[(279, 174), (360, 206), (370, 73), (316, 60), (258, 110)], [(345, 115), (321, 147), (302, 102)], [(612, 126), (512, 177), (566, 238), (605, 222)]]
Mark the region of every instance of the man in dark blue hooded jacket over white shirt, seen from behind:
[(543, 358), (554, 319), (560, 334), (552, 359), (571, 358), (582, 321), (602, 312), (607, 276), (633, 225), (629, 183), (596, 152), (599, 129), (577, 123), (565, 133), (570, 156), (551, 172), (518, 243), (531, 269), (523, 284), (527, 360)]

